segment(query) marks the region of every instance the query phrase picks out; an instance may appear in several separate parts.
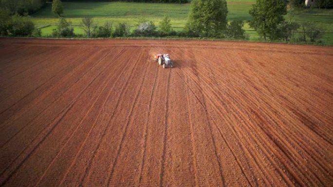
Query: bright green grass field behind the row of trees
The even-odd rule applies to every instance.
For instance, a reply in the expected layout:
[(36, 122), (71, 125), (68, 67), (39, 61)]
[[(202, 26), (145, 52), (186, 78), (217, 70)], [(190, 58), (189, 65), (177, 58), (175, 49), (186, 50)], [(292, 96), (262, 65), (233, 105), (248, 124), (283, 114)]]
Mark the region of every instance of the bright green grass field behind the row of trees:
[[(227, 0), (228, 20), (250, 20), (248, 14), (252, 4), (256, 0)], [(82, 17), (94, 17), (94, 24), (102, 25), (105, 22), (126, 22), (134, 27), (140, 19), (151, 20), (159, 25), (164, 15), (171, 18), (174, 30), (182, 30), (190, 4), (169, 4), (169, 3), (135, 3), (135, 2), (63, 2), (64, 14), (73, 23), (76, 34), (84, 34), (80, 27)], [(47, 36), (56, 28), (58, 18), (51, 12), (51, 4), (47, 4), (36, 14), (31, 15), (38, 28), (41, 28), (42, 35)], [(288, 13), (286, 19), (293, 19), (297, 22), (311, 21), (323, 28), (326, 32), (323, 43), (333, 45), (333, 9), (306, 9)], [(244, 29), (249, 35), (249, 40), (258, 40), (258, 34), (245, 24)]]

